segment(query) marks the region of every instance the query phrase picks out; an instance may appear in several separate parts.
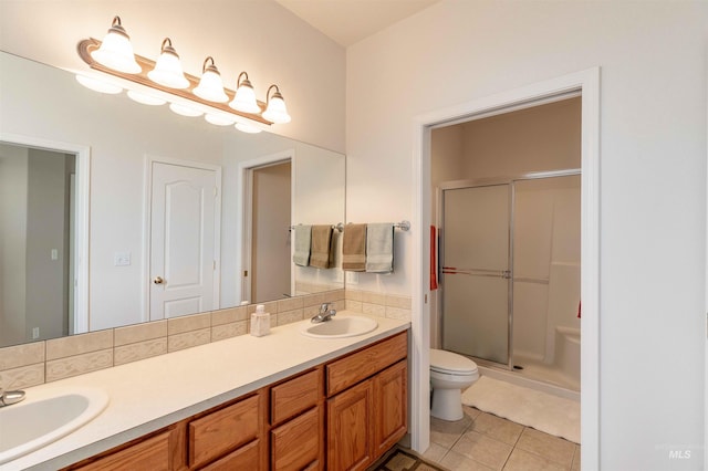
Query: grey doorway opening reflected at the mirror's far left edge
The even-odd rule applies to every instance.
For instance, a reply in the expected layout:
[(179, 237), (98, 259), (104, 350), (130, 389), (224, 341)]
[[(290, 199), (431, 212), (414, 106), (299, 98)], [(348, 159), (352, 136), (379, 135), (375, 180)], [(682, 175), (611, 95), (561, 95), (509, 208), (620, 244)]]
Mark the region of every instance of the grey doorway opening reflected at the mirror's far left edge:
[(0, 143), (0, 346), (73, 333), (76, 156)]

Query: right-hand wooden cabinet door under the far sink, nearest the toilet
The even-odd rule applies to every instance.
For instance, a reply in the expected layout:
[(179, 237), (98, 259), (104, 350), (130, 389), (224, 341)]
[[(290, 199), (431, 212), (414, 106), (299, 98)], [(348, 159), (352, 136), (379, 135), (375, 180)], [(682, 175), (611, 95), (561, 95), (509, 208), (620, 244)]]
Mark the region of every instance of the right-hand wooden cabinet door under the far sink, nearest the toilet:
[(378, 458), (403, 438), (407, 430), (408, 368), (398, 362), (374, 377), (374, 422)]

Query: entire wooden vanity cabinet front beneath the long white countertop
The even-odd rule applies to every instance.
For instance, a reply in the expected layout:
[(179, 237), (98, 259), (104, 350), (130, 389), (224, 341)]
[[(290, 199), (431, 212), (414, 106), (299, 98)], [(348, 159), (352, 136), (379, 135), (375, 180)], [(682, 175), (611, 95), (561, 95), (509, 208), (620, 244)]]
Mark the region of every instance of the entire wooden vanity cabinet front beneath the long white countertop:
[(407, 332), (69, 470), (362, 470), (407, 430)]

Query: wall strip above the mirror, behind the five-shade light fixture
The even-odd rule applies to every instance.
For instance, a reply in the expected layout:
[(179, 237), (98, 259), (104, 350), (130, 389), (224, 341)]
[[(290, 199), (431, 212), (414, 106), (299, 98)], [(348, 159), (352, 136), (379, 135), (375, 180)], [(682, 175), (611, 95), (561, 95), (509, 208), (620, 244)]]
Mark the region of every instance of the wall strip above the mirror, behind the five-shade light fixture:
[(136, 54), (157, 59), (169, 36), (191, 75), (211, 55), (231, 90), (241, 71), (261, 101), (277, 84), (292, 122), (275, 133), (344, 150), (344, 49), (272, 0), (2, 0), (0, 50), (86, 71), (76, 44), (102, 40), (116, 14)]

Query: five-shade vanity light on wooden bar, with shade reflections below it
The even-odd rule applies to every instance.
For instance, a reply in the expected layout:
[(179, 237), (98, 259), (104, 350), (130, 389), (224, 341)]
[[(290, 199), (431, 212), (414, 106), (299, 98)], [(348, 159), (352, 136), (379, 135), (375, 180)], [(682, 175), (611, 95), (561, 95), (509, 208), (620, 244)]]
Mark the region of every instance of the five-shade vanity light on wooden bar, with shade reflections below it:
[[(207, 56), (204, 61), (200, 78), (189, 75), (181, 70), (179, 55), (169, 38), (163, 41), (157, 62), (135, 54), (119, 17), (114, 18), (104, 42), (108, 43), (105, 48), (101, 41), (87, 39), (81, 41), (77, 46), (79, 55), (93, 71), (107, 74), (110, 76), (107, 78), (114, 78), (113, 87), (86, 85), (92, 81), (102, 80), (101, 75), (97, 78), (94, 76), (77, 78), (80, 83), (92, 90), (110, 90), (111, 92), (104, 93), (119, 93), (116, 87), (126, 88), (135, 92), (131, 95), (137, 96), (134, 100), (139, 103), (157, 105), (169, 102), (170, 109), (185, 116), (215, 114), (215, 111), (219, 112), (216, 113), (217, 115), (225, 115), (223, 112), (226, 112), (228, 115), (233, 115), (229, 124), (238, 122), (237, 129), (247, 133), (262, 130), (261, 125), (270, 126), (291, 121), (277, 85), (268, 88), (266, 103), (256, 98), (253, 85), (246, 72), (238, 75), (236, 92), (226, 88), (211, 56)], [(150, 93), (150, 90), (155, 93)], [(229, 100), (231, 100), (230, 103)], [(226, 119), (209, 122), (223, 125), (221, 123)]]

